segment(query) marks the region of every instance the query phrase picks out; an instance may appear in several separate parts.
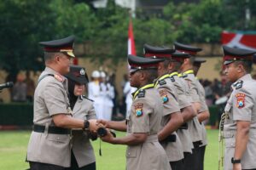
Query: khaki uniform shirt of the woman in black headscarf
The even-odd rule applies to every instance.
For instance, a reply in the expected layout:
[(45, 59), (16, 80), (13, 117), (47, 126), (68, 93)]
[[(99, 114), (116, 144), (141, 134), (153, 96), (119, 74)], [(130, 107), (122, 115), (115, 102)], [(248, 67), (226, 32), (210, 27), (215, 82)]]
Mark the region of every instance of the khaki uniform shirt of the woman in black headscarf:
[[(82, 120), (96, 119), (96, 111), (93, 102), (84, 96), (79, 96), (73, 107), (73, 117)], [(72, 150), (73, 155), (78, 162), (79, 167), (84, 167), (96, 161), (94, 150), (90, 144), (88, 133), (83, 130), (73, 130), (72, 132)]]

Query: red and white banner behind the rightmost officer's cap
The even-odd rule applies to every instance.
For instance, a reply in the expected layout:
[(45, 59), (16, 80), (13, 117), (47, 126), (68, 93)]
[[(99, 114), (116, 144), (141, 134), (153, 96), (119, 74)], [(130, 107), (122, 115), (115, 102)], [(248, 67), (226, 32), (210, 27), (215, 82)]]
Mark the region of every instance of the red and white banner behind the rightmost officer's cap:
[(256, 31), (223, 31), (221, 41), (230, 48), (256, 50)]

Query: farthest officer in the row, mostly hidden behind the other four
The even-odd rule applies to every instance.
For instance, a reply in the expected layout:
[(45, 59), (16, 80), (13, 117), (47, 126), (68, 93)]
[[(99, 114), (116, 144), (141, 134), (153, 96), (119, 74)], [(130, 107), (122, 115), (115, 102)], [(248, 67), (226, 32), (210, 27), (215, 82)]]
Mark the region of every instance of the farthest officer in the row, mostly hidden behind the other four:
[[(205, 63), (207, 60), (206, 59), (202, 59), (199, 57), (195, 57), (194, 63), (193, 63), (193, 71), (195, 74), (195, 77), (201, 67), (202, 63)], [(198, 79), (197, 80), (197, 88), (199, 89), (199, 97), (201, 100), (201, 109), (198, 111), (198, 121), (201, 124), (201, 134), (202, 134), (202, 144), (200, 145), (200, 155), (201, 155), (201, 167), (199, 169), (203, 170), (204, 169), (204, 157), (205, 157), (205, 151), (206, 151), (206, 146), (207, 146), (207, 130), (206, 127), (204, 125), (204, 121), (206, 121), (209, 117), (210, 117), (210, 112), (208, 110), (208, 106), (207, 106), (207, 102), (206, 102), (206, 93), (205, 93), (205, 89), (203, 88), (203, 86), (201, 85), (201, 82), (199, 82)]]

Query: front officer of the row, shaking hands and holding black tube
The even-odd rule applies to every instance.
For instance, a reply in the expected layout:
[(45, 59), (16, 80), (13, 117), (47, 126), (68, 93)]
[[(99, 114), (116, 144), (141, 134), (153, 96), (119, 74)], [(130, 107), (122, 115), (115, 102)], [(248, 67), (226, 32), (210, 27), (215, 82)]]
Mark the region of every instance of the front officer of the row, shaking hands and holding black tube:
[(108, 133), (102, 140), (111, 144), (127, 144), (126, 169), (171, 169), (165, 150), (158, 141), (163, 107), (160, 95), (154, 88), (154, 78), (157, 77), (157, 65), (162, 59), (146, 59), (128, 55), (131, 65), (131, 87), (136, 87), (133, 94), (131, 114), (125, 122), (101, 121), (108, 128), (125, 131), (123, 138), (114, 139)]

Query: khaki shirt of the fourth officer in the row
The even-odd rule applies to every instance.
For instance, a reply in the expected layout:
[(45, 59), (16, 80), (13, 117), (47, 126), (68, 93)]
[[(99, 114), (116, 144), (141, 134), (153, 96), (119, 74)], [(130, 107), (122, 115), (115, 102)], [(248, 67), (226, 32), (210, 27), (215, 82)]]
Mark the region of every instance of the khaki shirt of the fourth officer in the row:
[[(195, 79), (194, 72), (192, 70), (185, 71), (183, 73), (183, 80), (185, 81), (186, 86), (189, 89), (189, 96), (191, 98), (191, 102), (200, 103), (201, 101), (199, 99), (199, 90), (196, 86), (197, 80)], [(193, 120), (189, 121), (188, 125), (189, 125), (189, 133), (192, 141), (193, 142), (201, 141), (202, 140), (201, 125), (197, 119), (197, 116), (195, 116)]]

